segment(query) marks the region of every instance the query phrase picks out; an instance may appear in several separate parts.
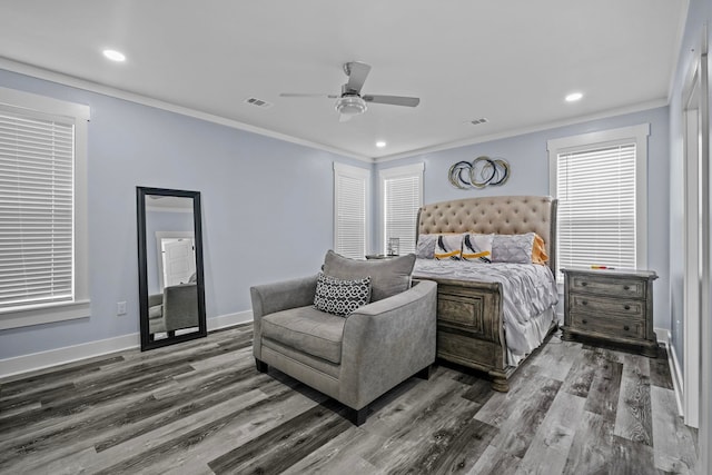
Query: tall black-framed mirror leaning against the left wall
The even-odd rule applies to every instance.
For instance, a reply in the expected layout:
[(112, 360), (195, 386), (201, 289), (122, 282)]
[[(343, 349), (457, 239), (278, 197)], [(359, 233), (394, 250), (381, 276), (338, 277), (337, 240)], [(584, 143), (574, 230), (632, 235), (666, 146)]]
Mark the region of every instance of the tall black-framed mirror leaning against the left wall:
[(137, 188), (141, 349), (207, 335), (200, 194)]

